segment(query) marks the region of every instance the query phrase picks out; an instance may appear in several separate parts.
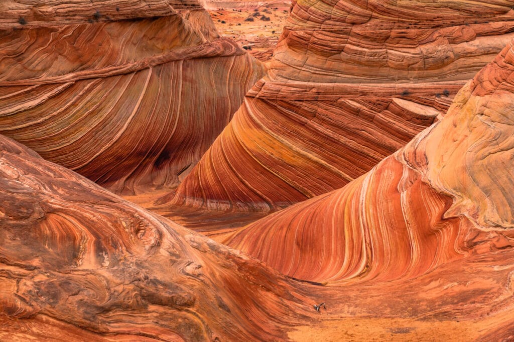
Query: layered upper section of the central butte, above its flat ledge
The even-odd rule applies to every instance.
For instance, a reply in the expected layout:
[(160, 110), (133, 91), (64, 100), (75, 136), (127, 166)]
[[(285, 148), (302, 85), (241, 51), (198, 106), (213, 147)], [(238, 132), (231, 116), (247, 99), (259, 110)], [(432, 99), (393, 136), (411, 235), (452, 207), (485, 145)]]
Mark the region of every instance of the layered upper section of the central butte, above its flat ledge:
[(508, 1), (305, 0), (292, 8), (271, 78), (343, 84), (471, 79), (508, 43), (513, 20)]

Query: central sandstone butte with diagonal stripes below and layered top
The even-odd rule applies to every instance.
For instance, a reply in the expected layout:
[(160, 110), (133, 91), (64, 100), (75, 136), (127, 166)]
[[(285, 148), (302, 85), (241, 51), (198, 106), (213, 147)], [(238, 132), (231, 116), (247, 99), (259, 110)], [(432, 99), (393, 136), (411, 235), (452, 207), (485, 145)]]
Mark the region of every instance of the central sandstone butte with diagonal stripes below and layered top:
[(266, 76), (171, 205), (276, 211), (343, 187), (442, 117), (512, 31), (506, 1), (294, 3)]

